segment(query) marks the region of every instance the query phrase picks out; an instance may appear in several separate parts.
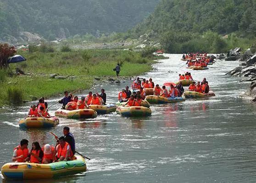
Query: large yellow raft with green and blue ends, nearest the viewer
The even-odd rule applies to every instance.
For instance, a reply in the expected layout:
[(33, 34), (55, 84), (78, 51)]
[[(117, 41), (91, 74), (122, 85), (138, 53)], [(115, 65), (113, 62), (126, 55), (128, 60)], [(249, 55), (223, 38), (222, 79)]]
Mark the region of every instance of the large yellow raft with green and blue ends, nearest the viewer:
[(1, 172), (6, 179), (41, 179), (73, 175), (86, 171), (86, 162), (81, 156), (75, 155), (73, 161), (60, 161), (49, 164), (37, 163), (6, 163)]

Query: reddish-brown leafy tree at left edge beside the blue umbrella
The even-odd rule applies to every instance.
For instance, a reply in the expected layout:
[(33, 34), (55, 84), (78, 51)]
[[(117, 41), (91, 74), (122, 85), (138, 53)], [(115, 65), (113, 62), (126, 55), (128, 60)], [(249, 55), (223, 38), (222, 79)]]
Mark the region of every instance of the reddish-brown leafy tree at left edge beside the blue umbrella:
[(15, 55), (17, 50), (9, 44), (0, 44), (0, 69), (8, 67), (8, 58)]

